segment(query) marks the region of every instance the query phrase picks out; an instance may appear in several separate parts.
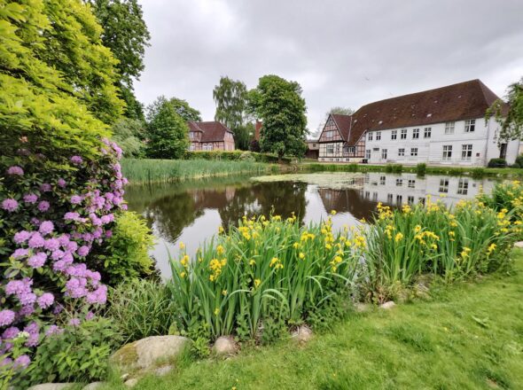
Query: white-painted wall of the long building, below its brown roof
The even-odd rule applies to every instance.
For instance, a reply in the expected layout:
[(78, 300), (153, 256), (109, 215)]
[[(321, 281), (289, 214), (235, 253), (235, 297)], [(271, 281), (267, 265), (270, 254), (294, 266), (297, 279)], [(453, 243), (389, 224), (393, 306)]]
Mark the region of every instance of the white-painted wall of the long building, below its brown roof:
[[(425, 138), (425, 128), (431, 128), (431, 137)], [(407, 129), (407, 138), (401, 139), (401, 130)], [(371, 150), (370, 163), (399, 163), (418, 164), (425, 162), (437, 165), (460, 165), (482, 167), (488, 160), (499, 157), (496, 136), (499, 125), (495, 120), (486, 123), (484, 118), (475, 120), (473, 132), (465, 132), (465, 121), (454, 122), (454, 133), (445, 134), (445, 123), (435, 123), (425, 126), (414, 126), (402, 129), (381, 130), (381, 140), (376, 140), (377, 131), (372, 131), (372, 140), (366, 135), (365, 150)], [(419, 138), (413, 139), (413, 129), (419, 129)], [(393, 130), (397, 131), (397, 138), (391, 139)], [(472, 157), (470, 160), (462, 159), (462, 145), (472, 144)], [(443, 145), (452, 146), (450, 160), (443, 160)], [(405, 156), (398, 155), (398, 149), (405, 149)], [(411, 156), (411, 148), (418, 148), (418, 156)], [(383, 149), (387, 150), (386, 160), (381, 158)], [(506, 160), (512, 164), (519, 152), (519, 141), (508, 144)]]

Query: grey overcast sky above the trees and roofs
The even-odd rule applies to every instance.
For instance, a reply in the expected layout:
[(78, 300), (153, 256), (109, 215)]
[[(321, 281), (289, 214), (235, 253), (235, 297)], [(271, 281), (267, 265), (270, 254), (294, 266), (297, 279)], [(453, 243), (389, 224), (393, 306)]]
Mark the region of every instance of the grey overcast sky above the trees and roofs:
[(523, 76), (522, 0), (143, 0), (145, 105), (183, 98), (215, 115), (220, 76), (300, 82), (315, 131), (332, 106), (479, 78), (500, 97)]

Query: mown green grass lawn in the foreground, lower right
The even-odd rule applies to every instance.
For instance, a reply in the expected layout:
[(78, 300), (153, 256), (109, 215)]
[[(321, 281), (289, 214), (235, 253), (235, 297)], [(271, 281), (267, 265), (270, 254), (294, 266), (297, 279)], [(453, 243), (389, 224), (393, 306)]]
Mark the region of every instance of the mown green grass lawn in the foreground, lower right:
[[(515, 271), (434, 288), (430, 300), (351, 314), (305, 346), (180, 362), (137, 389), (523, 388), (523, 251)], [(107, 388), (125, 388), (118, 381)]]

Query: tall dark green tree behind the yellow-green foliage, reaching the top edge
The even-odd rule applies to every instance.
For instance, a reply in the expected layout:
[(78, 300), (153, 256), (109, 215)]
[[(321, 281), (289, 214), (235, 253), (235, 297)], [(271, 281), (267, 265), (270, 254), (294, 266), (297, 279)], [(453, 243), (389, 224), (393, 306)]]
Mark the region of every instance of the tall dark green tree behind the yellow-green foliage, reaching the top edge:
[(142, 6), (137, 0), (87, 0), (98, 22), (104, 28), (101, 35), (105, 47), (118, 59), (117, 82), (121, 98), (127, 107), (125, 116), (144, 119), (143, 105), (137, 101), (133, 82), (144, 71), (145, 47), (151, 35), (144, 21)]

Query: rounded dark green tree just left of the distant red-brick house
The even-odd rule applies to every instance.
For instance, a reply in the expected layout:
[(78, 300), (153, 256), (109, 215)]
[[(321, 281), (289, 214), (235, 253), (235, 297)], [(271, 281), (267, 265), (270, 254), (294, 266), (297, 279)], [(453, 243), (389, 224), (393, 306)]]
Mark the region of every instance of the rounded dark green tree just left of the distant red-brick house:
[(148, 144), (152, 159), (179, 159), (189, 146), (189, 127), (170, 101), (161, 96), (148, 108)]

